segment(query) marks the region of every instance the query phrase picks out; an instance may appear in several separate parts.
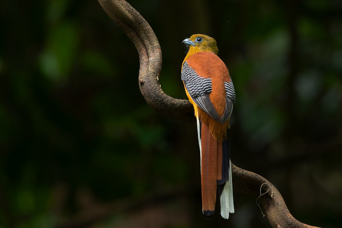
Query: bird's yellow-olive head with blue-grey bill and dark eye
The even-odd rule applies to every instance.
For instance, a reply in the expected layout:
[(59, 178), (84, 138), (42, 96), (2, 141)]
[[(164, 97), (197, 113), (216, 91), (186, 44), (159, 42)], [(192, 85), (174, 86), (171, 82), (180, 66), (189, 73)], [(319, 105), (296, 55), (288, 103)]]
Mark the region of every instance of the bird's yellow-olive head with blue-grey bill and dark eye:
[(192, 35), (190, 38), (183, 40), (183, 43), (188, 46), (189, 48), (188, 53), (193, 54), (199, 51), (207, 51), (207, 52), (215, 53), (217, 55), (217, 53), (219, 52), (215, 39), (206, 35), (202, 35), (202, 34)]

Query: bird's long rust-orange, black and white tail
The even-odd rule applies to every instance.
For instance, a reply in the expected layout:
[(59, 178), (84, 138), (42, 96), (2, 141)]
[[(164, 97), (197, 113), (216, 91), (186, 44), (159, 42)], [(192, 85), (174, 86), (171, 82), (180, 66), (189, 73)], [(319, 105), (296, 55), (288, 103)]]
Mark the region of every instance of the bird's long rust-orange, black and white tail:
[(232, 169), (229, 139), (217, 142), (208, 126), (197, 119), (198, 143), (201, 153), (201, 187), (203, 214), (210, 218), (215, 211), (216, 187), (219, 188), (221, 215), (234, 213)]

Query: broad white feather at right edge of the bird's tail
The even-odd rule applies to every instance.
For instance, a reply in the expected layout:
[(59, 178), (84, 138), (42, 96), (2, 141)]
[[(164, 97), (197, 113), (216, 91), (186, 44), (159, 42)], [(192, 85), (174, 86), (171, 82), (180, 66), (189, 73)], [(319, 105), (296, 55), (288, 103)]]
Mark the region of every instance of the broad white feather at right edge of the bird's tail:
[(229, 213), (234, 213), (234, 200), (233, 200), (233, 181), (232, 181), (232, 163), (229, 159), (229, 180), (225, 183), (221, 198), (221, 216), (228, 219)]

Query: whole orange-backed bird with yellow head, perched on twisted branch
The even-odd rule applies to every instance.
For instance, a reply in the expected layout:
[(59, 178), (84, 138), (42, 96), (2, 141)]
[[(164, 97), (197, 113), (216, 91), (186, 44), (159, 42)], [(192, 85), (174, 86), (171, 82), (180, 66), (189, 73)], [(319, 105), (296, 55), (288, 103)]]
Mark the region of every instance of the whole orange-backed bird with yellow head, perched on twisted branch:
[(182, 42), (188, 52), (182, 63), (181, 80), (197, 119), (201, 158), (202, 212), (212, 218), (216, 189), (221, 216), (234, 213), (232, 165), (228, 129), (236, 95), (233, 81), (219, 58), (215, 39), (202, 34)]

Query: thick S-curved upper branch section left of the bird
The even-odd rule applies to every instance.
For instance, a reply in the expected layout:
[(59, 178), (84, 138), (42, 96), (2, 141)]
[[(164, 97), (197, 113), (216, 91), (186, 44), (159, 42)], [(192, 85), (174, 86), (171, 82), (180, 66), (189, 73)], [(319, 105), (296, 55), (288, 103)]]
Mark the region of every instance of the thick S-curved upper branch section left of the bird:
[(154, 31), (146, 20), (126, 1), (98, 2), (133, 41), (139, 52), (139, 87), (148, 105), (170, 119), (193, 122), (194, 110), (190, 102), (170, 97), (160, 87), (161, 49)]

